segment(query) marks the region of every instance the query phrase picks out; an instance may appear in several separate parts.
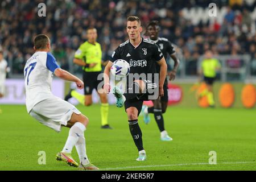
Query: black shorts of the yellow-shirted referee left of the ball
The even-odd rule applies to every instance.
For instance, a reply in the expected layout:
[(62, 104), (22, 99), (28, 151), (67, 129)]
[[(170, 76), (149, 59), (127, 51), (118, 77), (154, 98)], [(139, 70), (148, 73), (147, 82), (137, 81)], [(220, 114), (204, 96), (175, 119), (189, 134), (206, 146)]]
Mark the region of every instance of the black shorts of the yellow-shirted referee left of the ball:
[[(101, 72), (84, 72), (82, 75), (82, 80), (84, 81), (84, 94), (90, 95), (92, 94), (93, 89), (97, 89), (100, 82), (103, 80), (97, 80), (98, 75)], [(103, 86), (103, 85), (102, 85)]]

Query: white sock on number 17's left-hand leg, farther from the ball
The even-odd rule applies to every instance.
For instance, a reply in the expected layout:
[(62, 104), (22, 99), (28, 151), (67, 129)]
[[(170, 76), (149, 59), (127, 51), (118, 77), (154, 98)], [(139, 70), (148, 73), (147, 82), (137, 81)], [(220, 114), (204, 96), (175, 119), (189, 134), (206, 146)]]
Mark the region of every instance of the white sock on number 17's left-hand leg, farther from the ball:
[(80, 136), (84, 135), (85, 129), (86, 128), (84, 125), (82, 125), (82, 123), (76, 122), (69, 130), (67, 142), (65, 143), (65, 146), (61, 152), (70, 154)]

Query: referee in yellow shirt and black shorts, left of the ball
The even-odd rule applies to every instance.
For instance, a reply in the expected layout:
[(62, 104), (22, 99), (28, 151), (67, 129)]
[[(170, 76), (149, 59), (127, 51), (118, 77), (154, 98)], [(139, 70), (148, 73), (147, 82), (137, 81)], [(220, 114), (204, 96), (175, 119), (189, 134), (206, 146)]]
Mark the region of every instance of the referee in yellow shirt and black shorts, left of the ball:
[(75, 59), (73, 63), (82, 66), (83, 69), (83, 81), (84, 81), (84, 95), (76, 92), (76, 90), (71, 90), (67, 96), (65, 96), (65, 101), (69, 98), (76, 98), (82, 105), (90, 106), (92, 105), (92, 91), (97, 90), (98, 95), (101, 100), (101, 128), (102, 129), (112, 129), (108, 124), (108, 114), (109, 114), (109, 103), (108, 96), (106, 93), (102, 92), (102, 89), (98, 90), (98, 84), (101, 80), (98, 80), (98, 75), (102, 71), (102, 65), (106, 65), (108, 62), (103, 62), (101, 45), (96, 42), (97, 40), (97, 30), (94, 27), (90, 27), (86, 31), (87, 41), (79, 47), (75, 53)]

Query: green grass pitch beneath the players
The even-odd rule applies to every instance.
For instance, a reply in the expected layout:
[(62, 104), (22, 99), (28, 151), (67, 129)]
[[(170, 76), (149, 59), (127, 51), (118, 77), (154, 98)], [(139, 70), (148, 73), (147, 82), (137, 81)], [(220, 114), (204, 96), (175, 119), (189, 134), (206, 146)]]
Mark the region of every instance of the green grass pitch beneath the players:
[[(140, 117), (147, 160), (137, 162), (123, 108), (109, 108), (113, 130), (100, 129), (100, 105), (77, 108), (90, 119), (85, 131), (88, 157), (102, 170), (256, 169), (255, 109), (168, 107), (164, 119), (172, 142), (160, 141), (153, 115), (148, 125)], [(30, 117), (23, 105), (2, 105), (1, 109), (0, 170), (76, 170), (55, 160), (67, 139), (67, 128), (56, 133)], [(38, 164), (39, 151), (46, 152), (46, 165)], [(209, 151), (216, 151), (216, 165), (208, 164)], [(75, 148), (72, 154), (78, 160)]]

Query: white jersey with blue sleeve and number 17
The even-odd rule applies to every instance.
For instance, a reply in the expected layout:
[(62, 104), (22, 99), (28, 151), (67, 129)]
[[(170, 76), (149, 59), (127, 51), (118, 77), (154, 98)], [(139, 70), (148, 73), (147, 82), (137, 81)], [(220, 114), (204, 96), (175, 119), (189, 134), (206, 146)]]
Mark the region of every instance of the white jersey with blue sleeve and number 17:
[(40, 101), (55, 97), (51, 92), (55, 69), (60, 68), (49, 52), (38, 51), (27, 60), (24, 67), (27, 112)]

